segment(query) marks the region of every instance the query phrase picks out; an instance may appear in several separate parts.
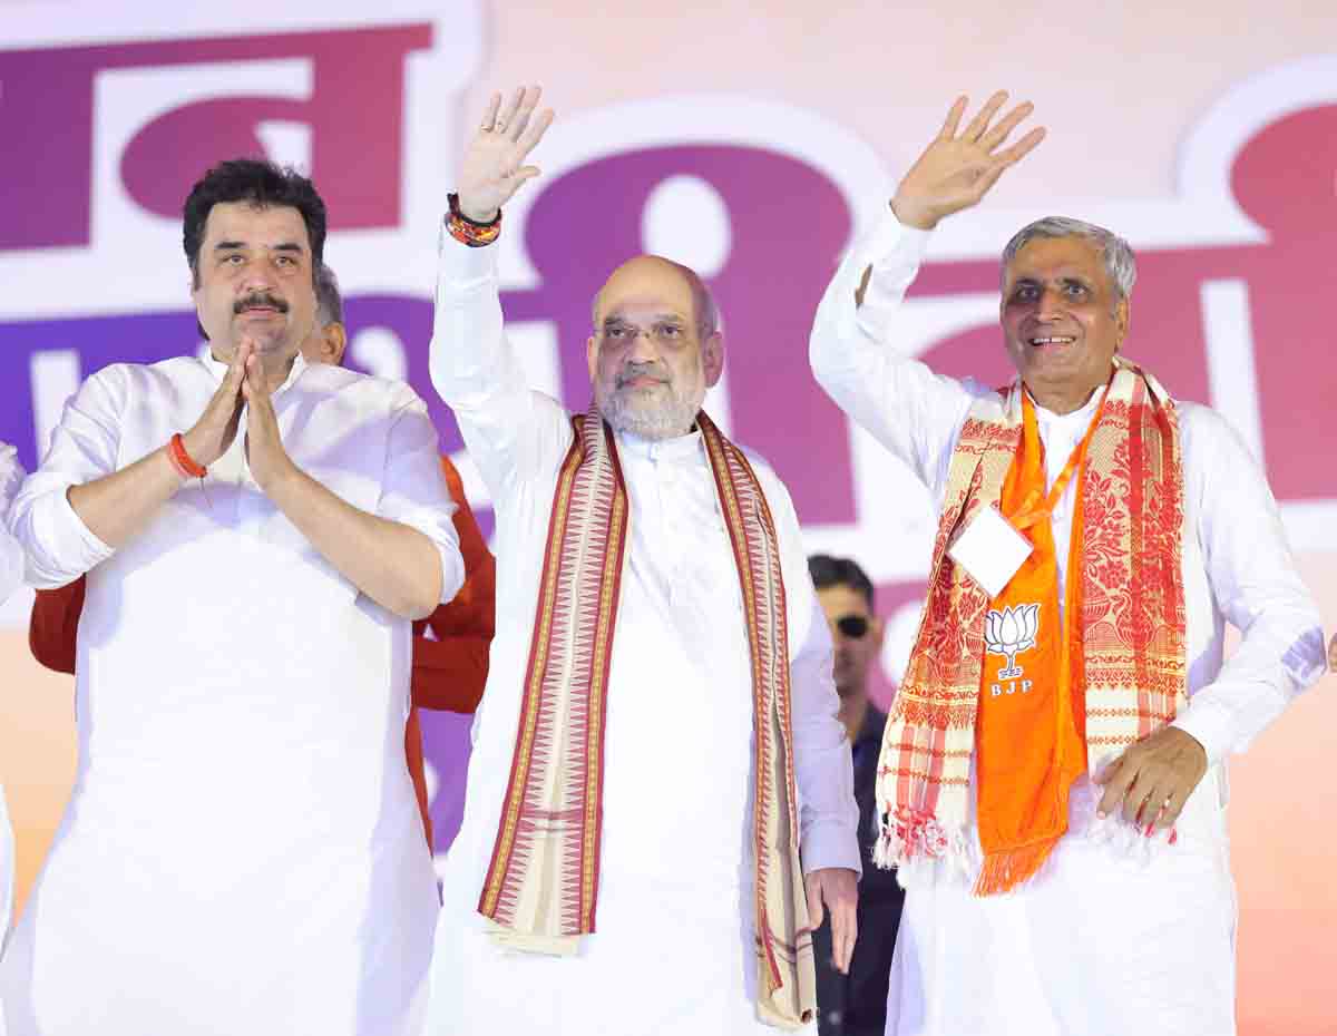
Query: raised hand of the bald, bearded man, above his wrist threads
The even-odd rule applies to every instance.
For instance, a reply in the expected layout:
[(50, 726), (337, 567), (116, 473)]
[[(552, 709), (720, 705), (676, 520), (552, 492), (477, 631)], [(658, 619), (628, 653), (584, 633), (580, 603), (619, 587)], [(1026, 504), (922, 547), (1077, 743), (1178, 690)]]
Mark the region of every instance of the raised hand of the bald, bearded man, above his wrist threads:
[(492, 222), (520, 184), (539, 175), (524, 160), (552, 124), (552, 108), (535, 114), (540, 96), (540, 87), (521, 87), (504, 108), (500, 94), (488, 102), (460, 163), (460, 211), (473, 222)]

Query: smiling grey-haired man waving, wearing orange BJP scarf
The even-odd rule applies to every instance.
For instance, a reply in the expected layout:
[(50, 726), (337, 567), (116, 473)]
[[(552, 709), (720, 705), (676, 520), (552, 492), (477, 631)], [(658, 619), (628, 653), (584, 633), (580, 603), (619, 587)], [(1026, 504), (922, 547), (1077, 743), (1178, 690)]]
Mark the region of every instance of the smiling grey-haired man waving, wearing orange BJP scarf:
[(878, 767), (877, 858), (908, 886), (886, 1032), (1225, 1036), (1225, 761), (1322, 672), (1318, 614), (1239, 437), (1122, 357), (1135, 267), (1110, 231), (1048, 218), (1007, 246), (1008, 388), (896, 352), (928, 233), (1043, 136), (1007, 146), (1028, 104), (963, 126), (965, 103), (812, 337), (941, 508)]

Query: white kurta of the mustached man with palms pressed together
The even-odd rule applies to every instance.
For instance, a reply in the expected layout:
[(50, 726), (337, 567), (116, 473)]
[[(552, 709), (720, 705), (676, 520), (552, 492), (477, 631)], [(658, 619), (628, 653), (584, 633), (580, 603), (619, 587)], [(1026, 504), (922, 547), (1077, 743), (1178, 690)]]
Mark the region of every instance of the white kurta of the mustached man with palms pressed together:
[[(67, 405), (11, 527), (28, 577), (88, 572), (79, 769), (0, 964), (9, 1036), (421, 1028), (437, 898), (405, 767), (412, 631), (266, 497), (234, 446), (112, 552), (67, 501), (190, 428), (225, 368), (116, 365)], [(463, 580), (437, 437), (406, 385), (301, 358), (295, 464)]]

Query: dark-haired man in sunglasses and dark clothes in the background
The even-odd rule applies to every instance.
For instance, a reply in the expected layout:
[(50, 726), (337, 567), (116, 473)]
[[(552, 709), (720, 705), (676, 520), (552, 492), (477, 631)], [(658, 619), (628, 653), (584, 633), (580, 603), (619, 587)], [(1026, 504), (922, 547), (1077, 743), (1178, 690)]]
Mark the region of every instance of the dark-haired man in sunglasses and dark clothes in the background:
[(877, 753), (886, 713), (869, 700), (868, 675), (882, 650), (884, 626), (873, 611), (873, 583), (858, 564), (848, 557), (814, 553), (808, 559), (808, 572), (832, 631), (840, 721), (849, 731), (854, 755), (858, 850), (864, 862), (858, 941), (848, 973), (833, 966), (830, 924), (824, 921), (813, 933), (817, 1024), (821, 1036), (882, 1036), (896, 926), (905, 901), (896, 872), (872, 865), (877, 835)]

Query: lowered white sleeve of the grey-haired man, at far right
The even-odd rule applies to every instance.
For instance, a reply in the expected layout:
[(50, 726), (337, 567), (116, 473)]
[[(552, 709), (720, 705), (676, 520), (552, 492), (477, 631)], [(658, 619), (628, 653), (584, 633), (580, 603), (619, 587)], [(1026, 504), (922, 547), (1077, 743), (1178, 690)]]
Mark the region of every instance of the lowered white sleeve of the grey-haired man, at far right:
[(1242, 639), (1174, 725), (1215, 763), (1249, 747), (1326, 660), (1318, 607), (1296, 571), (1262, 469), (1219, 414), (1194, 406), (1189, 421), (1185, 492), (1195, 503), (1211, 595)]

